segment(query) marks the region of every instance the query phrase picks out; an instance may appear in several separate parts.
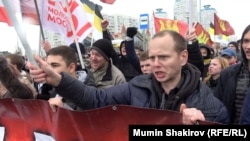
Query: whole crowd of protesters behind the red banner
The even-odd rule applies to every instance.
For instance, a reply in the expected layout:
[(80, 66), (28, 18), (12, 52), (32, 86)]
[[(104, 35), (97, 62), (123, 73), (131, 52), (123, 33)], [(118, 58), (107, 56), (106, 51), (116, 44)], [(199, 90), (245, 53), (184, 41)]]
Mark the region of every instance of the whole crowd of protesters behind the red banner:
[(199, 44), (195, 31), (164, 30), (141, 51), (137, 28), (128, 27), (116, 52), (107, 21), (102, 29), (90, 52), (81, 42), (44, 41), (46, 57), (34, 56), (39, 68), (17, 54), (0, 57), (0, 97), (45, 100), (54, 111), (123, 104), (181, 112), (183, 124), (250, 124), (250, 25), (220, 50)]

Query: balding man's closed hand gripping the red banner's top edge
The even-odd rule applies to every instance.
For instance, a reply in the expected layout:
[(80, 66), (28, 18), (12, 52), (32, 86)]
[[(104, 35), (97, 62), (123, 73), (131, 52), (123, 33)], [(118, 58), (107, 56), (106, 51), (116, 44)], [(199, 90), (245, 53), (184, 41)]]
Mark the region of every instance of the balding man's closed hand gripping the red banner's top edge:
[(196, 108), (187, 108), (186, 104), (181, 104), (182, 122), (187, 125), (197, 124), (198, 121), (205, 121), (203, 113)]

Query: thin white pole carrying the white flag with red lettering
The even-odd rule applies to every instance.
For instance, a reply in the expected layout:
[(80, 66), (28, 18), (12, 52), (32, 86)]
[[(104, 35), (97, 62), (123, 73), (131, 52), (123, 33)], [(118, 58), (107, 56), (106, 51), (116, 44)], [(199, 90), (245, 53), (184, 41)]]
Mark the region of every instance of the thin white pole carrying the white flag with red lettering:
[(82, 53), (81, 53), (81, 50), (80, 50), (80, 47), (79, 47), (78, 40), (76, 38), (76, 30), (75, 30), (75, 27), (74, 27), (72, 15), (70, 13), (69, 4), (68, 4), (67, 0), (65, 0), (65, 2), (66, 2), (67, 13), (68, 13), (68, 17), (69, 17), (70, 27), (71, 27), (72, 32), (73, 32), (73, 37), (74, 37), (74, 41), (76, 43), (76, 49), (77, 49), (78, 56), (79, 56), (79, 59), (80, 59), (81, 67), (82, 67), (82, 69), (85, 69), (84, 62), (83, 62), (83, 59), (82, 59)]

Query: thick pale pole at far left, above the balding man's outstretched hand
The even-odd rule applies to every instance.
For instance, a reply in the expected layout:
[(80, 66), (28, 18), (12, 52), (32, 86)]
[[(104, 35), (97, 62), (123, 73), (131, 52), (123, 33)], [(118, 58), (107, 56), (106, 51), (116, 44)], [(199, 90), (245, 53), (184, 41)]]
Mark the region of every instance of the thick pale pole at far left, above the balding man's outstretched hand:
[(33, 64), (35, 65), (36, 67), (38, 67), (38, 64), (37, 62), (35, 61), (33, 55), (32, 55), (32, 51), (31, 51), (31, 48), (30, 48), (30, 45), (27, 41), (27, 39), (25, 38), (25, 31), (23, 30), (24, 28), (21, 26), (21, 24), (19, 24), (16, 16), (14, 15), (13, 13), (13, 10), (11, 8), (11, 6), (9, 5), (9, 0), (2, 0), (6, 10), (7, 10), (7, 13), (8, 13), (8, 16), (10, 17), (11, 19), (11, 22), (13, 23), (13, 26), (17, 32), (17, 35), (19, 36), (19, 39), (21, 40), (22, 44), (23, 44), (23, 47), (25, 49), (25, 54), (27, 55), (28, 57), (28, 60)]

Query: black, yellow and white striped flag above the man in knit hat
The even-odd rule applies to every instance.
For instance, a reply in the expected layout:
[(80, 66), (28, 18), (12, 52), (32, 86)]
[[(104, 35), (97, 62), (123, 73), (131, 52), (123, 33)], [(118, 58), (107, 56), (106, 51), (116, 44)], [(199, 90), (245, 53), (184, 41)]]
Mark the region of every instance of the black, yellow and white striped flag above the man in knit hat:
[(92, 36), (95, 40), (102, 39), (102, 26), (101, 22), (103, 20), (103, 16), (101, 14), (102, 7), (97, 5), (89, 0), (81, 0), (83, 4), (83, 8), (88, 15), (89, 21), (92, 23), (94, 27), (94, 32)]

